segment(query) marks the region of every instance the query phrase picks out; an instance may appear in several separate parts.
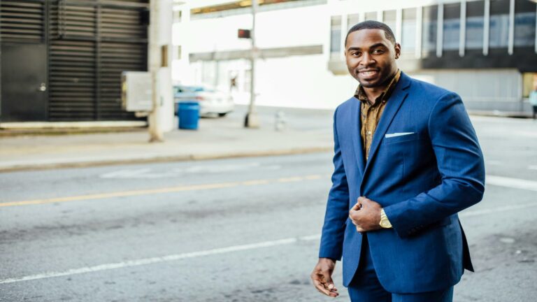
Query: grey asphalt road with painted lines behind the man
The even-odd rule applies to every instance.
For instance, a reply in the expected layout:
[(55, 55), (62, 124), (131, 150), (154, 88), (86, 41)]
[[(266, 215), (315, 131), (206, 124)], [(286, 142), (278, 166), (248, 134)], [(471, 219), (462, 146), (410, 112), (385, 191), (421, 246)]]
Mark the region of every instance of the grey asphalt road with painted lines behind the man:
[[(454, 301), (534, 301), (537, 123), (473, 122), (487, 188)], [(329, 153), (0, 173), (0, 301), (331, 301), (309, 281), (330, 173)]]

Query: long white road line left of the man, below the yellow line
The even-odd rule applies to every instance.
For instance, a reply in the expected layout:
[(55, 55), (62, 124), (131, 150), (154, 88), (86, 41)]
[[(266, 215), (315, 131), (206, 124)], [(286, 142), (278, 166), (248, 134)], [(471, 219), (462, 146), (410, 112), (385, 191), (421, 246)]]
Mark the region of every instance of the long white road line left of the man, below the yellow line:
[(181, 259), (189, 259), (189, 258), (197, 258), (197, 257), (203, 257), (203, 256), (210, 256), (215, 254), (226, 254), (229, 252), (239, 252), (244, 250), (255, 250), (263, 247), (274, 247), (278, 245), (289, 245), (292, 243), (297, 243), (299, 241), (310, 241), (310, 240), (318, 240), (320, 238), (320, 235), (311, 235), (311, 236), (303, 236), (303, 237), (294, 237), (294, 238), (286, 238), (286, 239), (280, 239), (280, 240), (272, 240), (272, 241), (264, 241), (261, 243), (252, 243), (247, 245), (234, 245), (231, 247), (221, 247), (216, 248), (213, 250), (204, 250), (199, 252), (188, 252), (183, 254), (171, 254), (163, 257), (152, 257), (152, 258), (144, 258), (144, 259), (136, 259), (131, 261), (122, 261), (117, 262), (113, 264), (101, 264), (98, 266), (86, 266), (83, 268), (73, 268), (67, 271), (60, 271), (60, 272), (48, 272), (48, 273), (40, 273), (36, 275), (27, 275), (21, 278), (8, 278), (0, 280), (1, 284), (8, 284), (8, 283), (15, 283), (15, 282), (22, 282), (22, 281), (29, 281), (29, 280), (39, 280), (39, 279), (46, 279), (46, 278), (56, 278), (56, 277), (63, 277), (67, 275), (78, 275), (81, 273), (94, 273), (98, 271), (108, 271), (111, 269), (116, 268), (127, 268), (132, 266), (143, 266), (148, 264), (157, 264), (162, 262), (168, 262), (168, 261), (176, 261)]

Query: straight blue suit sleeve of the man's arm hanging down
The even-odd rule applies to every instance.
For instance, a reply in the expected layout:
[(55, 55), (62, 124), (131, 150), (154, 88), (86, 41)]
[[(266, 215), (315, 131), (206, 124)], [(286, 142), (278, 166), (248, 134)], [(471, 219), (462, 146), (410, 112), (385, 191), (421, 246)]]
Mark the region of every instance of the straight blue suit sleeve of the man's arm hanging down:
[(341, 260), (345, 220), (349, 216), (349, 186), (338, 141), (337, 114), (336, 109), (334, 113), (334, 173), (324, 215), (319, 257)]

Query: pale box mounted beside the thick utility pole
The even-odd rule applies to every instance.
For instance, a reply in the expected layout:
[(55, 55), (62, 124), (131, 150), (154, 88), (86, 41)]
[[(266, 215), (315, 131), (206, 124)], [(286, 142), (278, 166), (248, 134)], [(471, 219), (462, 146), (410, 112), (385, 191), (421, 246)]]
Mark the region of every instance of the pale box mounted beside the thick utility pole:
[(121, 103), (129, 112), (150, 112), (152, 106), (151, 73), (123, 71), (121, 74)]

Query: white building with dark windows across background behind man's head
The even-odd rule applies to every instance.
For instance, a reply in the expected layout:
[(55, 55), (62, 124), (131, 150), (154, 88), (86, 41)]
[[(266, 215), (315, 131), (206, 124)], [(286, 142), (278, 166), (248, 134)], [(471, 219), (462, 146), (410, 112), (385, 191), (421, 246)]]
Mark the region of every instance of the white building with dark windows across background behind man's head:
[[(184, 2), (184, 1), (183, 1)], [(537, 72), (537, 6), (529, 0), (258, 0), (257, 104), (335, 108), (355, 92), (343, 55), (357, 22), (388, 24), (399, 67), (460, 94), (469, 110), (529, 113)], [(207, 0), (174, 8), (173, 79), (250, 95), (251, 1)], [(236, 86), (231, 85), (235, 78)]]

